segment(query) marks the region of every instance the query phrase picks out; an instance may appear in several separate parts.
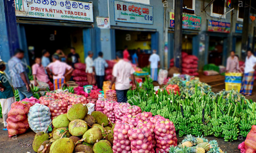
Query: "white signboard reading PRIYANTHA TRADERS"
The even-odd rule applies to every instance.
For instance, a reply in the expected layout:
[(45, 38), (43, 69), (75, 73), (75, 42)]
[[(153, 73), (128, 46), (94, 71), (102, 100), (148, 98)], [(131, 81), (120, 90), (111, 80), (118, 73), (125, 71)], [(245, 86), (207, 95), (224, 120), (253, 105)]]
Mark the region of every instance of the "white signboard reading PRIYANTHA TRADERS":
[(16, 16), (93, 22), (93, 4), (72, 0), (14, 0)]

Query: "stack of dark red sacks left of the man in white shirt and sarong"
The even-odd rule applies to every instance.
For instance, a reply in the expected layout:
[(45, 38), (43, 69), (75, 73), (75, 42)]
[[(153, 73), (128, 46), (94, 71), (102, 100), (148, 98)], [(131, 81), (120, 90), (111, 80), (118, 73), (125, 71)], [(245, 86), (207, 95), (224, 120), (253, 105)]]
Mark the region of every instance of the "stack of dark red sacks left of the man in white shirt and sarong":
[(84, 63), (76, 63), (74, 67), (75, 69), (72, 72), (72, 77), (75, 83), (81, 87), (88, 85), (88, 81), (86, 77), (87, 74), (85, 72), (86, 65)]

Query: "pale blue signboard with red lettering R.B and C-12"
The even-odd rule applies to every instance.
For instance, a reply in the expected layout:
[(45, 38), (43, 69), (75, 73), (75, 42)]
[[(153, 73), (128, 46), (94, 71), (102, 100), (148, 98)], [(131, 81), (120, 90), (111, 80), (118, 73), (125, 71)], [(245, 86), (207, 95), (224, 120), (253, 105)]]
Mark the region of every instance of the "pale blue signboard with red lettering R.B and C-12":
[(114, 1), (115, 21), (153, 24), (153, 6), (125, 1)]

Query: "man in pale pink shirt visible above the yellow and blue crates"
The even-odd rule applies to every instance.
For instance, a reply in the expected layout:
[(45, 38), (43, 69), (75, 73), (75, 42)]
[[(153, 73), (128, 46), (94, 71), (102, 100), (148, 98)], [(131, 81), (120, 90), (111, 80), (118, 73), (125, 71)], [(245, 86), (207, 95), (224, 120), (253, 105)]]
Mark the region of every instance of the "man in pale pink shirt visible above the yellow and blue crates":
[(227, 60), (226, 72), (238, 72), (239, 70), (239, 59), (235, 55), (234, 51), (230, 52), (230, 56)]

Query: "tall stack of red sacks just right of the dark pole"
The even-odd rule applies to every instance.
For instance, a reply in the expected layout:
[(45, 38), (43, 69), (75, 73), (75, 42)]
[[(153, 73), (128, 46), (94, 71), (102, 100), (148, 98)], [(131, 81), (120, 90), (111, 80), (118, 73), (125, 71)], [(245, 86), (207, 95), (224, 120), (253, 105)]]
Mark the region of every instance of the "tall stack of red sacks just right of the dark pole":
[(199, 75), (198, 69), (198, 58), (195, 55), (187, 55), (182, 57), (182, 74), (188, 74), (191, 76)]

